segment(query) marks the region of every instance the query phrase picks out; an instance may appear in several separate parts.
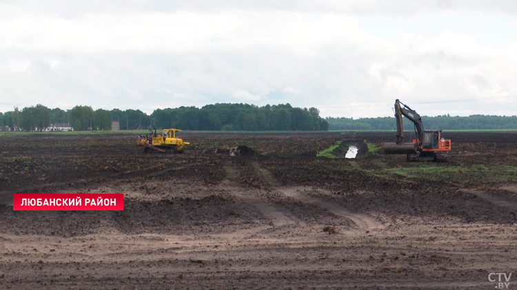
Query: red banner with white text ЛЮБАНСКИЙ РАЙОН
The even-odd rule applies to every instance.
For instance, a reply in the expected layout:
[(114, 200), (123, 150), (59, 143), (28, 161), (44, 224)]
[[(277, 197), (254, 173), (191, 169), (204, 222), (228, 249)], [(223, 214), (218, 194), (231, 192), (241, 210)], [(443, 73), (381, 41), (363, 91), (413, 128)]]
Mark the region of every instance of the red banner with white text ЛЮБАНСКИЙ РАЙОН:
[(13, 210), (124, 210), (124, 194), (12, 194)]

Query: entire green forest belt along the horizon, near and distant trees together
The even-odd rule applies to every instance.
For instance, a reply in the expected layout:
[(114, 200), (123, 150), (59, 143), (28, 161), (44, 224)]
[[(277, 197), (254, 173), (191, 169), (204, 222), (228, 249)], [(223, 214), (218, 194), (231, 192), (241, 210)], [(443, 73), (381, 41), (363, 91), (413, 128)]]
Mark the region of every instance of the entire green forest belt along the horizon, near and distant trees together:
[[(41, 131), (52, 124), (65, 124), (74, 131), (110, 130), (111, 122), (119, 121), (120, 130), (177, 128), (192, 131), (329, 131), (329, 130), (396, 130), (393, 117), (321, 118), (316, 108), (296, 108), (290, 104), (208, 104), (202, 108), (179, 107), (156, 109), (151, 115), (140, 110), (94, 110), (88, 106), (72, 109), (49, 109), (38, 104), (0, 113), (0, 128), (13, 131)], [(517, 116), (470, 115), (468, 117), (438, 115), (422, 117), (425, 129), (503, 130), (517, 129)], [(405, 120), (404, 128), (413, 124)]]

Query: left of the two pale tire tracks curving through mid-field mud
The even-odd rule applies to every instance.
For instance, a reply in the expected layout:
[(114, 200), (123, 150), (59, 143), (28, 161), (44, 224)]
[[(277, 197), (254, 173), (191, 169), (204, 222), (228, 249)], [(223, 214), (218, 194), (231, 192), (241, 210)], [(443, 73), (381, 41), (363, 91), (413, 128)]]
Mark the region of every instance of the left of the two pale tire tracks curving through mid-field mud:
[[(239, 199), (241, 199), (245, 203), (253, 205), (257, 210), (259, 210), (259, 212), (261, 212), (261, 214), (263, 214), (263, 216), (272, 221), (273, 227), (281, 227), (283, 225), (296, 225), (299, 223), (290, 216), (283, 214), (283, 212), (280, 209), (276, 208), (274, 205), (270, 203), (267, 203), (267, 201), (264, 201), (263, 199), (260, 199), (259, 197), (256, 197), (251, 194), (245, 194), (245, 192), (243, 192), (243, 190), (241, 189), (242, 186), (240, 185), (239, 172), (233, 166), (231, 166), (229, 161), (225, 162), (223, 168), (226, 172), (227, 180), (230, 181), (229, 186), (231, 194), (233, 194), (236, 197), (239, 197)], [(264, 227), (258, 227), (256, 230), (261, 231), (265, 229)], [(254, 230), (245, 230), (245, 232), (252, 233), (254, 232)]]

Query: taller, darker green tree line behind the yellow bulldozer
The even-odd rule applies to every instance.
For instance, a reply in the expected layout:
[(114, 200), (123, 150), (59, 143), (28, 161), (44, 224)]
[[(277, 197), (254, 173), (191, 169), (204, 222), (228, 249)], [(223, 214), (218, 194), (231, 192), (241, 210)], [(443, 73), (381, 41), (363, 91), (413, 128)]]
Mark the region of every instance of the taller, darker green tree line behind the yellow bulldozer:
[(88, 106), (49, 109), (42, 104), (0, 113), (1, 128), (43, 131), (65, 124), (74, 131), (110, 130), (119, 121), (120, 130), (177, 128), (198, 131), (327, 131), (329, 124), (316, 108), (290, 104), (257, 107), (253, 104), (209, 104), (202, 108), (156, 109), (151, 115), (140, 110), (94, 110)]

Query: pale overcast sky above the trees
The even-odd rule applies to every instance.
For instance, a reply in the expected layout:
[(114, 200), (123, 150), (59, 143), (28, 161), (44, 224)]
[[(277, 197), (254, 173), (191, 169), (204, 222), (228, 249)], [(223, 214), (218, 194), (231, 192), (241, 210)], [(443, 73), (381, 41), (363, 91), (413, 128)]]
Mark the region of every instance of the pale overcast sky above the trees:
[[(0, 0), (0, 111), (517, 115), (514, 0)], [(460, 101), (469, 100), (469, 101)]]

